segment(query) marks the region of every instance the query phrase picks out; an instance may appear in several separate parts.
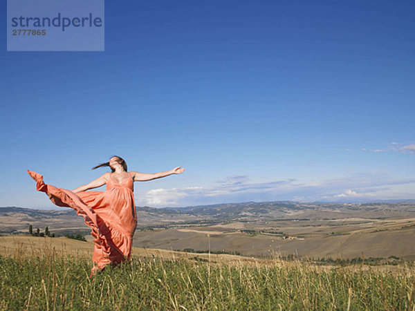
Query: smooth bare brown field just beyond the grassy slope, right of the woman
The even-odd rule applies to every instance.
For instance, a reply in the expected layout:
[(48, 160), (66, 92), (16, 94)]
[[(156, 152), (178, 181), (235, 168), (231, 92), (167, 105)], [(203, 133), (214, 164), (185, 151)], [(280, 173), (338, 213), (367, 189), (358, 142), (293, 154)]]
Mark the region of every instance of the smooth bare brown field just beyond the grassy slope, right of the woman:
[(176, 229), (136, 232), (133, 245), (159, 249), (225, 249), (244, 256), (298, 254), (298, 256), (355, 258), (398, 256), (415, 259), (415, 227), (389, 229), (380, 232), (364, 232), (337, 236), (317, 236), (299, 240), (282, 240), (264, 234), (243, 233), (216, 234), (210, 236), (196, 232), (179, 232)]

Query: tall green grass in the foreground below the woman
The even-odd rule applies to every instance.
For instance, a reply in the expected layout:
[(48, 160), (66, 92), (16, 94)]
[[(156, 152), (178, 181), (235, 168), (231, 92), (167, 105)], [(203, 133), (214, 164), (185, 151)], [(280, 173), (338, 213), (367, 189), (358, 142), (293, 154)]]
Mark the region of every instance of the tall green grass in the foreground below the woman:
[[(3, 238), (3, 237), (2, 237)], [(38, 238), (39, 239), (39, 238)], [(53, 239), (50, 239), (53, 240)], [(39, 241), (39, 240), (37, 240)], [(46, 241), (46, 240), (44, 240)], [(70, 243), (86, 243), (69, 241)], [(86, 244), (88, 245), (88, 243)], [(76, 248), (76, 245), (73, 246)], [(167, 251), (166, 251), (167, 252)], [(414, 310), (415, 268), (317, 267), (135, 254), (89, 279), (91, 258), (15, 245), (0, 255), (1, 310)], [(167, 254), (167, 253), (166, 253)]]

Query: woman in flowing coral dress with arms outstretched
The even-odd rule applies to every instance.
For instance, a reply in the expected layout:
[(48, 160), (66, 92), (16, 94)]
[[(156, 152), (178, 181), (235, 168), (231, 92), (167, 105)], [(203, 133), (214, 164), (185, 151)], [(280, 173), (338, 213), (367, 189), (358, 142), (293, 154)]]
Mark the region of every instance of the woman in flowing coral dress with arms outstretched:
[[(127, 164), (119, 156), (113, 156), (109, 162), (93, 167), (110, 167), (111, 173), (72, 191), (45, 184), (43, 176), (34, 171), (29, 175), (37, 182), (37, 191), (45, 192), (57, 206), (72, 207), (78, 215), (85, 218), (85, 224), (91, 227), (95, 247), (92, 260), (96, 263), (91, 276), (106, 265), (116, 265), (131, 259), (131, 241), (136, 231), (137, 214), (134, 203), (133, 182), (153, 180), (172, 174), (180, 174), (184, 168), (175, 167), (171, 171), (159, 173), (138, 173), (127, 171)], [(105, 191), (86, 191), (107, 184)], [(90, 276), (90, 277), (91, 277)]]

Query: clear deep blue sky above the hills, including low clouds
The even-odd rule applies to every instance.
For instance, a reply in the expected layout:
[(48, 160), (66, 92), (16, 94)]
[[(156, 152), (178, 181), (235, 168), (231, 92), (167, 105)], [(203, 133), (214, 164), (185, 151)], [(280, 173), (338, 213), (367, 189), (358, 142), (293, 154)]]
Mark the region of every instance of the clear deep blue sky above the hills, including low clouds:
[(104, 52), (6, 52), (0, 37), (0, 206), (54, 207), (26, 169), (74, 189), (114, 154), (186, 169), (136, 182), (138, 206), (415, 199), (413, 1), (105, 12)]

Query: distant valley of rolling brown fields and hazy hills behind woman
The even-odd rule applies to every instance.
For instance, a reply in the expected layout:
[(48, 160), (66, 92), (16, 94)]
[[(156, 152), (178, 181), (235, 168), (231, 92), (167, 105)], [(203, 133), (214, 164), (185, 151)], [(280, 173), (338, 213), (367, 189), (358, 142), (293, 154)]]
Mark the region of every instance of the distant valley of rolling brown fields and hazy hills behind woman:
[[(242, 202), (197, 207), (137, 207), (133, 246), (244, 256), (415, 259), (415, 203)], [(0, 233), (31, 224), (55, 234), (91, 230), (73, 209), (0, 207)]]

